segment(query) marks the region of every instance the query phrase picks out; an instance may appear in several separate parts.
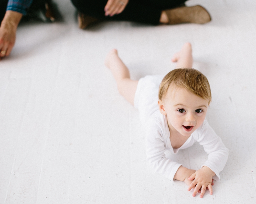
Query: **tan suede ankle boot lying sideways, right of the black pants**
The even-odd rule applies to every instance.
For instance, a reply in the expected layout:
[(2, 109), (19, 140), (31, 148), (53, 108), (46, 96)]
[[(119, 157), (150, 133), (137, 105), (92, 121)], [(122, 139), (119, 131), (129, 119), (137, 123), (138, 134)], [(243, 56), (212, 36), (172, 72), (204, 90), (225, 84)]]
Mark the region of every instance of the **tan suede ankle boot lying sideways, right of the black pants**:
[(211, 21), (208, 11), (202, 6), (178, 7), (165, 10), (169, 22), (168, 24), (178, 23), (207, 23)]

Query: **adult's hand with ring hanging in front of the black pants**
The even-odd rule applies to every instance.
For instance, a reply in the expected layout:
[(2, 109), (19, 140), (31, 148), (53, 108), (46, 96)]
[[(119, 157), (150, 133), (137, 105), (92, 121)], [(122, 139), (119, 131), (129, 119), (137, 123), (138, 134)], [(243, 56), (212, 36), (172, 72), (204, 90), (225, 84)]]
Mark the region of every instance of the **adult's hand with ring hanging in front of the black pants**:
[(104, 8), (105, 16), (120, 14), (124, 10), (128, 2), (129, 0), (108, 0)]

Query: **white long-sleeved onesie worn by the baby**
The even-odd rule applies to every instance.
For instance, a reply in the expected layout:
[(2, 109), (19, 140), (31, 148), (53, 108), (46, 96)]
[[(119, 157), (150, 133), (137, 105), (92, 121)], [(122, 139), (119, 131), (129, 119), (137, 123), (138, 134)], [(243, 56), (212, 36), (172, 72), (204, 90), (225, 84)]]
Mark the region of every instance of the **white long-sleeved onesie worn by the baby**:
[(155, 75), (141, 78), (134, 97), (134, 106), (139, 111), (140, 120), (146, 133), (147, 161), (157, 173), (173, 180), (176, 171), (182, 164), (168, 159), (164, 152), (169, 150), (176, 154), (180, 149), (188, 148), (197, 141), (209, 154), (203, 166), (208, 166), (214, 171), (216, 175), (213, 179), (218, 181), (219, 173), (228, 159), (228, 149), (206, 119), (180, 148), (173, 149), (166, 115), (160, 113), (157, 103), (158, 89), (163, 77), (164, 75)]

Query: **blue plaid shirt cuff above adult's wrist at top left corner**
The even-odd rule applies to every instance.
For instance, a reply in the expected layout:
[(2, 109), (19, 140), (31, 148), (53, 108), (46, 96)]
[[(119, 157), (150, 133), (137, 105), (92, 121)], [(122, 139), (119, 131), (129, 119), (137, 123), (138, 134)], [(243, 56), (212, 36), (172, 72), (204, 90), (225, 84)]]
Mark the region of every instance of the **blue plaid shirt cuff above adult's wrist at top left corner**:
[(17, 11), (23, 15), (26, 15), (32, 2), (33, 0), (9, 0), (6, 10)]

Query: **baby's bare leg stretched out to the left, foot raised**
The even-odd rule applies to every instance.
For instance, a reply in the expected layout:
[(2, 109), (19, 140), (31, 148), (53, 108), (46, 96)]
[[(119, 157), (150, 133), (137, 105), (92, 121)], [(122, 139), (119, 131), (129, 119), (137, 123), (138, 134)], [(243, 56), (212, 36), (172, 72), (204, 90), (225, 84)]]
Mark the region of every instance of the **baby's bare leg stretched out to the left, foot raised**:
[(130, 73), (122, 60), (119, 58), (117, 50), (111, 50), (105, 59), (105, 65), (112, 72), (119, 93), (132, 105), (134, 105), (134, 95), (138, 81), (130, 79)]

